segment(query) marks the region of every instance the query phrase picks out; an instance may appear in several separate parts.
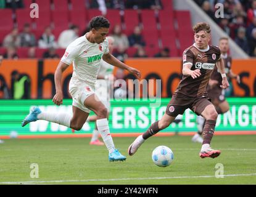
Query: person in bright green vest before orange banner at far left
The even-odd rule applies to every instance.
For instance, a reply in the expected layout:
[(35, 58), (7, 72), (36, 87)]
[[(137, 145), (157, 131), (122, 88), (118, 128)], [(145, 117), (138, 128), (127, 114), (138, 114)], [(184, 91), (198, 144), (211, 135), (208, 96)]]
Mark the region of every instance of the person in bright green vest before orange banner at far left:
[(21, 74), (19, 71), (12, 71), (12, 98), (28, 99), (30, 98), (30, 78), (27, 74)]

